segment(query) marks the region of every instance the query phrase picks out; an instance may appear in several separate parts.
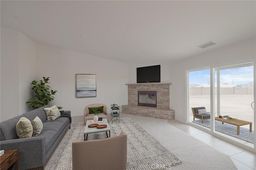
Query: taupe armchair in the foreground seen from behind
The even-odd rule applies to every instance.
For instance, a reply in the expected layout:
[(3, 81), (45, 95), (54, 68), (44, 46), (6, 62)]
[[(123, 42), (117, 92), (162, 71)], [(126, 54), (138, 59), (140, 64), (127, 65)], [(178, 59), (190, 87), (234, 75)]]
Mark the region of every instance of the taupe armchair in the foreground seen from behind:
[(126, 170), (127, 134), (72, 142), (73, 170)]

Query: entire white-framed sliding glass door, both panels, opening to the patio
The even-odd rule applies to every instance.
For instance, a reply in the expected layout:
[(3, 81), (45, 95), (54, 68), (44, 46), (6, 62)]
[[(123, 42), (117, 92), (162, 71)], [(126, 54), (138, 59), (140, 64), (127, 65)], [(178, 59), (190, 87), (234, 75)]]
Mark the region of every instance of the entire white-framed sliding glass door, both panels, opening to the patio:
[[(256, 151), (255, 60), (188, 71), (187, 77), (188, 123)], [(194, 107), (205, 107), (211, 118), (195, 118)]]

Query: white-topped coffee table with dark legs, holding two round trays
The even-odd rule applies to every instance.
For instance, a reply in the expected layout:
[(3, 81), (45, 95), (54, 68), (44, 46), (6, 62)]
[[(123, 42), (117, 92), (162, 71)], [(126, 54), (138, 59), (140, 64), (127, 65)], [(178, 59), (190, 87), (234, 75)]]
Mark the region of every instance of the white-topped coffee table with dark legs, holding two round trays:
[[(106, 128), (96, 128), (96, 127), (89, 128), (88, 125), (94, 124), (94, 123), (92, 123), (92, 120), (86, 121), (86, 127), (84, 129), (84, 140), (87, 140), (88, 134), (98, 133), (98, 132), (106, 132), (107, 138), (108, 138), (108, 132), (109, 132), (109, 137), (110, 137), (110, 127), (108, 125), (108, 121), (107, 121), (107, 119), (103, 119), (102, 121), (103, 122), (98, 122), (98, 123), (96, 122), (96, 123), (99, 125), (107, 125)], [(85, 137), (85, 135), (86, 135), (86, 137)]]

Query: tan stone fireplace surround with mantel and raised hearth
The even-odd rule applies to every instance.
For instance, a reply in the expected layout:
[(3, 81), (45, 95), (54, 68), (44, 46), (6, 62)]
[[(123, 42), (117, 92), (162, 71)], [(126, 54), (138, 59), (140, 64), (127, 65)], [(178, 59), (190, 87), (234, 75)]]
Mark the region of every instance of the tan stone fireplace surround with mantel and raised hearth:
[[(170, 85), (172, 83), (136, 83), (128, 85), (128, 105), (122, 105), (122, 113), (174, 119), (175, 111), (170, 107)], [(138, 106), (138, 91), (157, 91), (157, 107)]]

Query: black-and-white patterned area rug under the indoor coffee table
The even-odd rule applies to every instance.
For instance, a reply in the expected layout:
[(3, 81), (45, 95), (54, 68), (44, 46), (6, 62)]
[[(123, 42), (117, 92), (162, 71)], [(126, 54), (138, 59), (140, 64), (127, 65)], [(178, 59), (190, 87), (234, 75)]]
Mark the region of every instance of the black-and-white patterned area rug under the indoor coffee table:
[[(109, 121), (111, 136), (117, 136), (124, 131), (127, 134), (127, 170), (148, 170), (153, 165), (177, 166), (181, 161), (152, 137), (131, 118), (120, 118)], [(84, 140), (84, 123), (72, 123), (51, 158), (45, 170), (72, 169), (72, 141), (74, 138)], [(87, 140), (106, 138), (106, 132), (88, 134)], [(155, 167), (153, 167), (156, 169)]]

